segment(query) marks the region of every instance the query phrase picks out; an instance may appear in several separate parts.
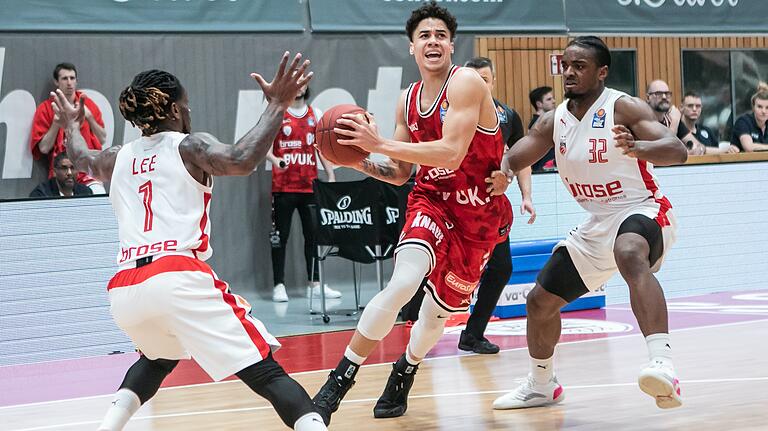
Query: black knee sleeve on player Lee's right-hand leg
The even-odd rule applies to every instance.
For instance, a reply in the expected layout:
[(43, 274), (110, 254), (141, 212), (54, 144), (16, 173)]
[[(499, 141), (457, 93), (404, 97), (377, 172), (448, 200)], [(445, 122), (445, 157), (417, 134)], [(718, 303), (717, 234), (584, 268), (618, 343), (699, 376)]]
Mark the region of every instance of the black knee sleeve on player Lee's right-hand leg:
[(285, 373), (270, 353), (235, 375), (251, 390), (272, 404), (283, 423), (293, 428), (302, 416), (316, 412), (312, 399), (304, 388)]

